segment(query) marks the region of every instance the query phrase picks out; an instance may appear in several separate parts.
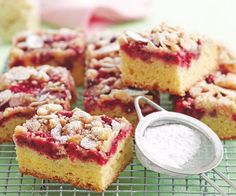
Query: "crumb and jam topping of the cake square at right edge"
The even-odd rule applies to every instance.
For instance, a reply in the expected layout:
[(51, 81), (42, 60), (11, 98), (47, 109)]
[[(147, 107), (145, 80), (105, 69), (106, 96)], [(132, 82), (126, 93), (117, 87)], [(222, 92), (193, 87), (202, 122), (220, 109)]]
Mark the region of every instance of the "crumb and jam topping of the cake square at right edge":
[[(197, 119), (236, 113), (236, 74), (218, 70), (193, 86), (185, 96), (173, 96), (174, 109)], [(219, 111), (218, 111), (219, 110)]]

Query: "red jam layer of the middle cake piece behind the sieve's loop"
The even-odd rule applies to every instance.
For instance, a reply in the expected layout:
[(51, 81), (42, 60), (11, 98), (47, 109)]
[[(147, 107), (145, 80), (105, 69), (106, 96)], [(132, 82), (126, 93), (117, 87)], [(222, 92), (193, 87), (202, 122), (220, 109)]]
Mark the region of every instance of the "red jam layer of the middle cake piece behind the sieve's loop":
[[(86, 92), (85, 92), (86, 93)], [(156, 103), (160, 103), (160, 97), (157, 95), (154, 100)], [(125, 113), (133, 113), (135, 112), (134, 102), (130, 101), (128, 103), (124, 103), (118, 99), (109, 99), (103, 102), (99, 101), (99, 98), (96, 96), (84, 96), (84, 109), (85, 111), (92, 113), (95, 109), (99, 110), (107, 110), (112, 111), (115, 107), (120, 107)], [(142, 106), (142, 113), (144, 115), (150, 114), (154, 112), (155, 109), (149, 105)]]

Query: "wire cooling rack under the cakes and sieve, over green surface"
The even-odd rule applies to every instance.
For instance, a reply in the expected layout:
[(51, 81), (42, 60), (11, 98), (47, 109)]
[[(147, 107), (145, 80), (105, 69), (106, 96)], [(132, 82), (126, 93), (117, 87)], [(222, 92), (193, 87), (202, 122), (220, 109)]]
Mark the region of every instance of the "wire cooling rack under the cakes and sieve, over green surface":
[[(80, 100), (81, 103), (81, 100)], [(162, 106), (170, 109), (167, 97), (162, 96)], [(236, 141), (225, 141), (224, 159), (218, 170), (229, 179), (236, 182)], [(229, 195), (236, 195), (214, 172), (208, 172), (211, 178)], [(136, 159), (120, 174), (106, 192), (95, 193), (75, 188), (69, 184), (59, 184), (48, 180), (39, 180), (31, 176), (22, 175), (18, 171), (13, 143), (0, 145), (0, 195), (218, 195), (218, 193), (200, 176), (187, 178), (172, 178), (158, 174), (144, 168)]]

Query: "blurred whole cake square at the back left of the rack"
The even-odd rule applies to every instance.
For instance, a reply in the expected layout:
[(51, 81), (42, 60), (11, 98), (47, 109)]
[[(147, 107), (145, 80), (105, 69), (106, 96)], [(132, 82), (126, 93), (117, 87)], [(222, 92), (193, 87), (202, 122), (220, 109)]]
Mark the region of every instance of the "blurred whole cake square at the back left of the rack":
[(13, 39), (8, 65), (62, 66), (71, 71), (77, 85), (83, 84), (85, 34), (71, 29), (24, 32)]

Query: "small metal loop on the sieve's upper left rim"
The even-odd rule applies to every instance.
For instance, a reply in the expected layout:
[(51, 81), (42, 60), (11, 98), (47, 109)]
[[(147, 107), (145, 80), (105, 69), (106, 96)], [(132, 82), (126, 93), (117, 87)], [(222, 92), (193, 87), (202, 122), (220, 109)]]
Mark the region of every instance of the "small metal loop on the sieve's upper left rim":
[(143, 114), (142, 114), (142, 110), (140, 108), (139, 105), (139, 101), (140, 100), (144, 100), (147, 104), (149, 104), (150, 106), (152, 106), (153, 108), (155, 108), (157, 111), (166, 111), (165, 109), (163, 109), (161, 106), (159, 106), (158, 104), (156, 104), (155, 102), (151, 101), (150, 99), (148, 99), (147, 97), (144, 96), (138, 96), (135, 98), (134, 100), (134, 107), (135, 110), (137, 112), (138, 118), (139, 120), (141, 120), (143, 118)]

